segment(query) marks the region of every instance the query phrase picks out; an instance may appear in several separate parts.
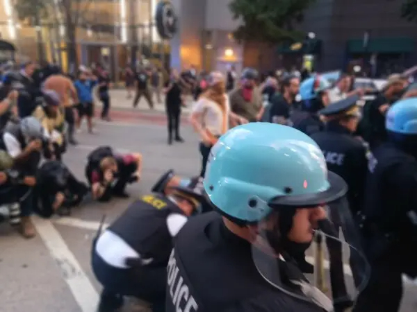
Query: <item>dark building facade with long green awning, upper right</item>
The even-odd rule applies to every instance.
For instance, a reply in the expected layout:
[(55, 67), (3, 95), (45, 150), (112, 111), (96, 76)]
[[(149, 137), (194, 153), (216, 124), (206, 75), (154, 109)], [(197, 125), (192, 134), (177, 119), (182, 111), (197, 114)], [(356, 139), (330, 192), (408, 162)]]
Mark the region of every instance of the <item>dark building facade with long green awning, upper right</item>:
[(359, 62), (377, 74), (416, 64), (417, 23), (402, 19), (402, 3), (318, 0), (300, 26), (306, 33), (316, 33), (322, 42), (317, 68), (347, 68)]

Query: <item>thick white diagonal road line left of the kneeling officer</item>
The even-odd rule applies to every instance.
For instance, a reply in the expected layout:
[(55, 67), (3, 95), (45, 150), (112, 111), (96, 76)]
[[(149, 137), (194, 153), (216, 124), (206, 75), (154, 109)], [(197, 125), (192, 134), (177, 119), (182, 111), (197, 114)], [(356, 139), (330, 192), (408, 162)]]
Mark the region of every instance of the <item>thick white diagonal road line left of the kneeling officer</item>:
[(72, 295), (79, 304), (82, 312), (92, 312), (97, 309), (99, 294), (95, 290), (90, 279), (76, 261), (74, 254), (60, 236), (54, 225), (49, 220), (33, 217), (33, 225), (44, 244), (47, 246), (51, 257), (63, 274), (63, 278), (70, 287)]

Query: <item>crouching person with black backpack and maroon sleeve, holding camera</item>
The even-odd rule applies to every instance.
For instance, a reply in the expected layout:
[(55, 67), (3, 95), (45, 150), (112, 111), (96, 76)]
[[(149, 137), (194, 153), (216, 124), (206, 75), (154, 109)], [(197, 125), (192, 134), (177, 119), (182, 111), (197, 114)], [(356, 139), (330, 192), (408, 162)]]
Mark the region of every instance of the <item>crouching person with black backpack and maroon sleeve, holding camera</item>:
[(140, 180), (142, 155), (116, 155), (110, 146), (99, 146), (88, 155), (85, 175), (90, 183), (92, 198), (107, 202), (113, 196), (128, 198), (126, 184)]

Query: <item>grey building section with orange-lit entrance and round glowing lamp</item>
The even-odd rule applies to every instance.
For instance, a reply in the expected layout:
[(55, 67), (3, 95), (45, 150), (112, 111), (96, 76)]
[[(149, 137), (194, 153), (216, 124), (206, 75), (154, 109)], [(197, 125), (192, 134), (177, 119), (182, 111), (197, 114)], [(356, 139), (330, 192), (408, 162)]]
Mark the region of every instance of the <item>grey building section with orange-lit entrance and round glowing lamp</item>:
[(232, 19), (228, 0), (172, 0), (172, 4), (179, 15), (179, 30), (170, 40), (172, 67), (242, 69), (243, 45), (231, 35), (239, 21)]

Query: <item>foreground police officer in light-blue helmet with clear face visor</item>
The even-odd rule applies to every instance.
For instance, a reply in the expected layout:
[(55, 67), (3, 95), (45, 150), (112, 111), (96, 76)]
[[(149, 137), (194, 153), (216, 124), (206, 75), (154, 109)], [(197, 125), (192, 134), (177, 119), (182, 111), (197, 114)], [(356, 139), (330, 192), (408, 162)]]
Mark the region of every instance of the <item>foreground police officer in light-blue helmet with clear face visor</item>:
[(348, 214), (346, 185), (312, 139), (285, 125), (239, 125), (213, 146), (203, 185), (216, 211), (174, 241), (167, 312), (332, 311), (287, 249), (329, 222), (323, 203)]

